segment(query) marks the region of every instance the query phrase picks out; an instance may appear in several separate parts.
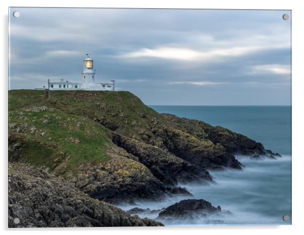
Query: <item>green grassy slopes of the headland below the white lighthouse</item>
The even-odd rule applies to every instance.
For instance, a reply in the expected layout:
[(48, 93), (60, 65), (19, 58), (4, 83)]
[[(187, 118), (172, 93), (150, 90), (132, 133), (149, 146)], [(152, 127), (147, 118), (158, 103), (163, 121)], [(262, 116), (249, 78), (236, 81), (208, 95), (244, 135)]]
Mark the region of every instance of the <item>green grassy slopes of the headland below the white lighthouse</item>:
[[(38, 112), (31, 109), (39, 106), (48, 109)], [(108, 151), (115, 146), (108, 138), (110, 130), (94, 122), (96, 117), (111, 119), (111, 125), (120, 127), (121, 133), (137, 136), (136, 128), (145, 130), (150, 125), (146, 116), (160, 122), (164, 120), (125, 91), (56, 91), (46, 99), (44, 91), (12, 90), (9, 91), (9, 123), (17, 124), (15, 129), (24, 123), (29, 126), (23, 128), (23, 133), (10, 129), (9, 147), (12, 149), (16, 143), (22, 143), (25, 147), (18, 150), (22, 161), (45, 165), (65, 174), (83, 162), (111, 159)], [(80, 142), (75, 143), (75, 140)], [(9, 154), (9, 159), (14, 160), (14, 155)]]

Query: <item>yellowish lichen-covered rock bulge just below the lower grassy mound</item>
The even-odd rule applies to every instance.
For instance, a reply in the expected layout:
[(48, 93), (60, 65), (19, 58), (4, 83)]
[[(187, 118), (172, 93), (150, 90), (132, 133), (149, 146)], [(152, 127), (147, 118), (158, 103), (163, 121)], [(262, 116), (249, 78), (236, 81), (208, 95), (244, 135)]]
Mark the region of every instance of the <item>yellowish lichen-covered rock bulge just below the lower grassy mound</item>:
[(92, 198), (111, 203), (161, 201), (169, 196), (164, 185), (146, 166), (123, 157), (113, 157), (97, 165), (87, 163), (68, 181)]

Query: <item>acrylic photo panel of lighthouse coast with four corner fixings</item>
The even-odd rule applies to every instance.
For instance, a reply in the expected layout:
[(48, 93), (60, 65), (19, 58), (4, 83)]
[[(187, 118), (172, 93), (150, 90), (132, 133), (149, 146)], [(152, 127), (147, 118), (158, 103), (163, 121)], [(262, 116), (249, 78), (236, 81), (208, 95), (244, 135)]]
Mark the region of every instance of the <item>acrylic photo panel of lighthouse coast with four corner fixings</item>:
[(9, 227), (291, 224), (291, 11), (9, 8)]

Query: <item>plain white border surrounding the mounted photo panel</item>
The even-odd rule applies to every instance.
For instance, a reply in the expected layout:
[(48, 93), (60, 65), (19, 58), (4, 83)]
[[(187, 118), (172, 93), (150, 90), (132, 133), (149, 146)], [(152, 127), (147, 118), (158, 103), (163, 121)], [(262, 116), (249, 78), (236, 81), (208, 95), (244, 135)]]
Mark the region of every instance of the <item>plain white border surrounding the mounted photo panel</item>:
[[(303, 232), (304, 222), (303, 214), (303, 28), (304, 28), (304, 12), (300, 0), (286, 1), (239, 1), (239, 0), (212, 0), (212, 1), (194, 1), (194, 0), (154, 0), (154, 1), (69, 1), (69, 0), (53, 0), (53, 1), (0, 1), (2, 34), (1, 40), (1, 71), (0, 79), (2, 115), (1, 115), (1, 150), (2, 150), (2, 193), (1, 202), (1, 227), (4, 233), (10, 232), (15, 234), (22, 232), (24, 234), (90, 234), (100, 233), (123, 233), (123, 234), (297, 234)], [(8, 229), (7, 228), (7, 122), (8, 122), (8, 7), (109, 7), (109, 8), (200, 8), (200, 9), (284, 9), (292, 10), (292, 224), (293, 225), (277, 225), (277, 226), (204, 226), (204, 227), (162, 227), (162, 228), (43, 228), (43, 229)]]

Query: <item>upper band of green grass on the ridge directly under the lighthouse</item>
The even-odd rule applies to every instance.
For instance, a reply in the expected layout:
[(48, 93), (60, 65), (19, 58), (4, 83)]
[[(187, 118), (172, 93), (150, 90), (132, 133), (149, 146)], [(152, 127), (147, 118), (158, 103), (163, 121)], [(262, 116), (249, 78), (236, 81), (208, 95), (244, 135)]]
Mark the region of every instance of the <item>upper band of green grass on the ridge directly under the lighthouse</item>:
[[(128, 91), (52, 91), (51, 98), (45, 99), (43, 91), (12, 90), (9, 97), (12, 101), (10, 110), (18, 107), (16, 101), (19, 100), (22, 100), (20, 104), (23, 107), (54, 107), (65, 113), (85, 116), (91, 120), (102, 118), (107, 128), (115, 130), (113, 126), (120, 127), (120, 133), (129, 137), (140, 138), (135, 128), (149, 131), (151, 119), (166, 124), (162, 115), (144, 105), (138, 97)], [(100, 105), (105, 107), (101, 108)]]

